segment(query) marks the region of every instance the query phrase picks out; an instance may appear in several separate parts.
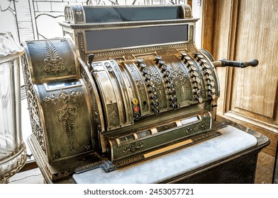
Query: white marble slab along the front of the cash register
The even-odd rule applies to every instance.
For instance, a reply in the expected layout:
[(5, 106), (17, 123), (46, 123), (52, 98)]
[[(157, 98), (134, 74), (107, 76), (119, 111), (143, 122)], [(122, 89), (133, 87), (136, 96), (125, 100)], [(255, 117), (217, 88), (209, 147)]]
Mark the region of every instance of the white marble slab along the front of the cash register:
[(257, 139), (235, 127), (218, 129), (221, 136), (172, 151), (148, 161), (105, 173), (101, 168), (74, 174), (73, 179), (82, 184), (103, 183), (158, 183), (188, 173), (196, 168), (216, 162), (247, 148), (255, 146)]

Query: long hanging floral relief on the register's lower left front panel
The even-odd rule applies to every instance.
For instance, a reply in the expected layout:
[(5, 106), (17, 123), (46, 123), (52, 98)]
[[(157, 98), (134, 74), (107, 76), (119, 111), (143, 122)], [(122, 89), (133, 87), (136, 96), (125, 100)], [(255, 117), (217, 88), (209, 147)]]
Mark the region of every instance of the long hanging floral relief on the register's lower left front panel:
[(62, 122), (62, 127), (65, 131), (65, 134), (67, 134), (67, 139), (70, 141), (70, 151), (74, 151), (74, 139), (75, 139), (75, 120), (78, 117), (78, 108), (75, 105), (70, 105), (69, 102), (72, 100), (75, 102), (77, 98), (80, 98), (83, 95), (83, 93), (77, 91), (71, 91), (70, 93), (67, 93), (65, 91), (61, 91), (57, 97), (55, 97), (55, 94), (52, 93), (50, 97), (46, 96), (43, 101), (45, 103), (51, 102), (53, 104), (56, 104), (57, 102), (62, 103), (60, 106), (60, 109), (56, 111), (56, 114), (58, 116), (58, 121)]

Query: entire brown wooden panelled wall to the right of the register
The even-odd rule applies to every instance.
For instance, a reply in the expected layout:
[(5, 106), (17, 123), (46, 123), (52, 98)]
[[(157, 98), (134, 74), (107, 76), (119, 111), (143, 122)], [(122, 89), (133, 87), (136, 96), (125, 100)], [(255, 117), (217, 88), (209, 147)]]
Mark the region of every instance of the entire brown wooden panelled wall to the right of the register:
[(259, 60), (255, 68), (217, 69), (217, 113), (267, 135), (271, 143), (264, 151), (271, 156), (278, 139), (277, 7), (278, 0), (204, 1), (204, 12), (211, 14), (206, 17), (213, 21), (203, 23), (202, 37), (204, 48), (211, 43), (208, 49), (215, 59)]

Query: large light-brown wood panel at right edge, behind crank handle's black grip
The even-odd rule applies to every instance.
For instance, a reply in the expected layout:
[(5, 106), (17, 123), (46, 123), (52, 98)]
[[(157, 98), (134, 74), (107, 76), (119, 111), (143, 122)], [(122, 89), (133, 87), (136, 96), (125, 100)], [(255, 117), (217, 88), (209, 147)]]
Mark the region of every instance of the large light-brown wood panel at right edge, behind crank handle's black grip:
[(256, 57), (260, 65), (235, 69), (230, 101), (231, 110), (269, 124), (278, 124), (277, 7), (278, 1), (240, 1), (235, 59)]

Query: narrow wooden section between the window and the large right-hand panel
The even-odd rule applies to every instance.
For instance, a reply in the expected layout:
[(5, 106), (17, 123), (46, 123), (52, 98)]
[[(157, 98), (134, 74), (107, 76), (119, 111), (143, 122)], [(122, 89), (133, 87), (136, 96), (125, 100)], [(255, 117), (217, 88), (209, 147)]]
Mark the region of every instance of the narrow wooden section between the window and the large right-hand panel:
[[(230, 8), (232, 0), (206, 0), (203, 5), (202, 48), (208, 50), (215, 60), (228, 58), (230, 35)], [(221, 95), (218, 99), (218, 112), (223, 112), (226, 89), (226, 68), (216, 69)]]

